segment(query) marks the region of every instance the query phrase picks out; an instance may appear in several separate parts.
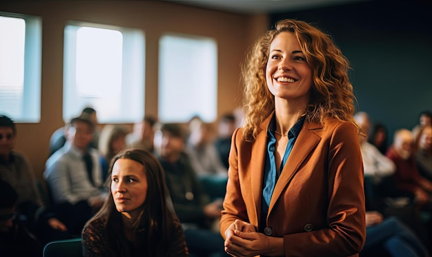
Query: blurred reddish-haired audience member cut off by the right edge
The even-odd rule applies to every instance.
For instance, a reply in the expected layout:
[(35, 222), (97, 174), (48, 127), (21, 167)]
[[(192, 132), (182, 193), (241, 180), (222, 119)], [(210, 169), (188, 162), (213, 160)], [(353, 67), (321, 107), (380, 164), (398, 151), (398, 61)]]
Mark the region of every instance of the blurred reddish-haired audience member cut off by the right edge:
[(415, 161), (421, 176), (432, 181), (432, 126), (425, 125), (415, 140)]

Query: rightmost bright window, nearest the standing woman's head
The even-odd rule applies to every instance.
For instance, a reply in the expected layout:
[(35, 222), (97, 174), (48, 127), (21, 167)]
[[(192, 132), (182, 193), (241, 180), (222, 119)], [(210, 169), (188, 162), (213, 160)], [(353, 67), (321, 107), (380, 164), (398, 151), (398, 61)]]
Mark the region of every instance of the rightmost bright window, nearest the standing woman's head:
[(217, 116), (217, 45), (204, 37), (166, 34), (159, 41), (159, 119)]

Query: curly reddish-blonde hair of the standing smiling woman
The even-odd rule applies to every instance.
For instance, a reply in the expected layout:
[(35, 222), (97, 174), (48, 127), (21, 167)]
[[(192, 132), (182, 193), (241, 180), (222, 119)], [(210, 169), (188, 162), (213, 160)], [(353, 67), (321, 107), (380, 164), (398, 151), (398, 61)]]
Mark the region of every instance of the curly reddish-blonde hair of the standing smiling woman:
[(244, 138), (253, 141), (259, 125), (275, 109), (274, 96), (266, 85), (266, 65), (271, 42), (281, 32), (295, 34), (313, 70), (311, 99), (304, 113), (306, 120), (324, 124), (326, 119), (338, 119), (356, 124), (355, 96), (348, 79), (350, 67), (346, 57), (328, 34), (304, 21), (284, 19), (276, 23), (275, 30), (268, 30), (256, 41), (242, 65)]

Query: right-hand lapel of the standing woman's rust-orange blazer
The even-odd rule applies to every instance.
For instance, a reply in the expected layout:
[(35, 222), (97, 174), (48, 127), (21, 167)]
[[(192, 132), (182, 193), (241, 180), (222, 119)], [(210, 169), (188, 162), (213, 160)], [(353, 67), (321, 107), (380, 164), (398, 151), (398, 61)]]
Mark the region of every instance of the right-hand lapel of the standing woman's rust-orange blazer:
[(298, 171), (306, 156), (308, 156), (317, 146), (318, 142), (320, 142), (321, 137), (312, 132), (312, 130), (320, 128), (322, 128), (322, 125), (320, 124), (304, 121), (303, 128), (295, 141), (293, 150), (291, 150), (291, 154), (288, 156), (288, 160), (286, 161), (284, 169), (282, 169), (282, 173), (280, 174), (275, 189), (273, 190), (270, 206), (268, 207), (268, 214), (271, 213), (277, 199), (282, 194), (284, 188), (288, 185), (288, 182)]

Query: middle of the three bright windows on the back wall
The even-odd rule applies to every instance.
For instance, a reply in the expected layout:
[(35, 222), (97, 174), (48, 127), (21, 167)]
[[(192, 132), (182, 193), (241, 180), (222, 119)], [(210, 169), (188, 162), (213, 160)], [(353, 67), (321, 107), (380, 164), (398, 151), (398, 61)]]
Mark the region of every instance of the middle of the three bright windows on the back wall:
[(65, 28), (63, 119), (93, 107), (101, 123), (144, 116), (144, 34), (71, 22)]

